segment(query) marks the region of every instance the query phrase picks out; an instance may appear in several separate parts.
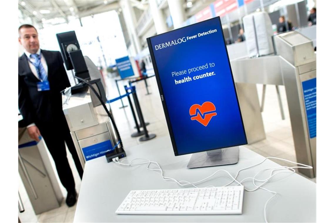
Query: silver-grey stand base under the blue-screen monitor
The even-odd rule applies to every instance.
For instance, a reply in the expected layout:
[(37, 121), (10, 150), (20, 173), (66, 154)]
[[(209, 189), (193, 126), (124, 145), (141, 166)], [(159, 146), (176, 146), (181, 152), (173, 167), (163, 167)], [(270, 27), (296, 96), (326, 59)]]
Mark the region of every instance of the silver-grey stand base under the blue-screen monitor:
[(187, 168), (235, 164), (239, 161), (239, 146), (193, 153)]

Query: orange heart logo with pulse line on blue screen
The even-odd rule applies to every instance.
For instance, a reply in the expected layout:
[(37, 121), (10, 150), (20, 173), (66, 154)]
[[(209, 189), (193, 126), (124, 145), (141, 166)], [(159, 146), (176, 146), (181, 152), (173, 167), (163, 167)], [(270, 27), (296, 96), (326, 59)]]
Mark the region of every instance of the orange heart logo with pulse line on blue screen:
[(191, 120), (197, 120), (207, 126), (213, 116), (217, 115), (216, 108), (212, 102), (206, 101), (201, 106), (194, 104), (190, 108)]

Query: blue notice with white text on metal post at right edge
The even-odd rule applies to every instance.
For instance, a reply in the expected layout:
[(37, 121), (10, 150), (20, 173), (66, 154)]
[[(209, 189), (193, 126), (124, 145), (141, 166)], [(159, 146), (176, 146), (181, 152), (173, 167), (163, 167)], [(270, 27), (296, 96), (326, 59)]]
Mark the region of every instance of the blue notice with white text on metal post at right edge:
[(302, 82), (310, 138), (316, 137), (316, 78)]

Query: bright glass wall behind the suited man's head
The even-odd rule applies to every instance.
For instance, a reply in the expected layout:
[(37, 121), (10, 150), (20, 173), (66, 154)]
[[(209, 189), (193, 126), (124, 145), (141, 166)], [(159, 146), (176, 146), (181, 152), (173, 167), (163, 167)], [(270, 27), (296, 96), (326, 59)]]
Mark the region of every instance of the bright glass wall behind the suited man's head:
[(117, 12), (109, 11), (71, 19), (63, 23), (45, 27), (39, 30), (42, 49), (57, 50), (59, 45), (56, 33), (74, 30), (84, 56), (88, 56), (98, 67), (108, 67), (115, 64), (115, 59), (127, 55), (127, 47), (123, 38)]

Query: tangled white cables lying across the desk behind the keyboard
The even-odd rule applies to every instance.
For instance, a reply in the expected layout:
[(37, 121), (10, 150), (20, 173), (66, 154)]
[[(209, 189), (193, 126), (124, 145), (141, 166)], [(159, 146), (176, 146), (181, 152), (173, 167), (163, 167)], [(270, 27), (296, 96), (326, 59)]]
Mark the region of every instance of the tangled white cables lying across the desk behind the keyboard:
[[(133, 163), (134, 160), (139, 160), (139, 159), (140, 159), (140, 160), (146, 160), (146, 162)], [(240, 182), (236, 180), (237, 177), (238, 177), (238, 175), (240, 174), (241, 171), (243, 171), (243, 170), (247, 170), (247, 169), (250, 169), (250, 168), (253, 168), (254, 166), (257, 166), (257, 165), (260, 165), (260, 164), (262, 164), (266, 159), (279, 159), (279, 160), (284, 160), (284, 161), (287, 161), (287, 162), (290, 162), (290, 163), (294, 163), (294, 164), (298, 164), (298, 165), (302, 165), (302, 166), (293, 166), (293, 167), (288, 167), (288, 166), (278, 166), (278, 167), (275, 167), (275, 168), (266, 168), (266, 169), (260, 170), (258, 173), (255, 174), (254, 177), (247, 177), (247, 178), (243, 179), (243, 180), (240, 181)], [(214, 176), (216, 173), (218, 173), (218, 172), (220, 172), (220, 171), (224, 171), (224, 172), (226, 172), (226, 173), (229, 175), (229, 177), (232, 178), (232, 181), (231, 181), (230, 183), (224, 185), (223, 187), (226, 187), (226, 186), (232, 184), (233, 182), (236, 182), (237, 185), (244, 186), (244, 185), (242, 185), (242, 182), (244, 182), (244, 181), (247, 180), (247, 179), (252, 179), (252, 180), (253, 180), (253, 185), (255, 186), (255, 188), (249, 190), (249, 189), (247, 189), (247, 188), (244, 186), (244, 190), (246, 190), (247, 192), (254, 192), (254, 191), (258, 190), (258, 189), (262, 189), (262, 190), (265, 190), (265, 191), (268, 191), (268, 192), (274, 194), (273, 196), (271, 196), (271, 197), (265, 202), (265, 205), (264, 205), (264, 220), (265, 220), (266, 223), (268, 223), (267, 218), (266, 218), (266, 207), (267, 207), (267, 204), (269, 203), (269, 201), (270, 201), (272, 198), (274, 198), (274, 197), (277, 195), (277, 192), (270, 191), (270, 190), (268, 190), (268, 189), (266, 189), (266, 188), (263, 188), (262, 186), (263, 186), (264, 184), (266, 184), (266, 183), (267, 183), (271, 178), (273, 178), (275, 175), (280, 174), (280, 173), (287, 173), (287, 172), (277, 172), (277, 173), (275, 173), (275, 174), (273, 174), (273, 173), (274, 173), (275, 171), (291, 170), (291, 173), (293, 174), (293, 173), (295, 173), (295, 170), (294, 170), (294, 169), (299, 169), (299, 168), (301, 168), (301, 169), (313, 169), (312, 166), (309, 166), (309, 165), (306, 165), (306, 164), (302, 164), (302, 163), (293, 162), (293, 161), (290, 161), (290, 160), (287, 160), (287, 159), (282, 159), (282, 158), (277, 158), (277, 157), (272, 157), (272, 156), (270, 156), (270, 157), (266, 157), (266, 158), (264, 158), (264, 160), (261, 161), (261, 162), (259, 162), (259, 163), (256, 163), (256, 164), (253, 164), (253, 165), (248, 166), (248, 167), (246, 167), (246, 168), (242, 168), (242, 169), (240, 169), (240, 170), (237, 172), (235, 178), (234, 178), (233, 176), (231, 176), (231, 174), (230, 174), (228, 171), (226, 171), (226, 170), (217, 170), (217, 171), (215, 171), (213, 174), (211, 174), (210, 176), (208, 176), (208, 177), (206, 177), (206, 178), (204, 178), (204, 179), (202, 179), (202, 180), (199, 180), (199, 181), (190, 183), (190, 182), (188, 182), (188, 181), (178, 181), (178, 180), (176, 180), (176, 179), (174, 179), (174, 178), (164, 177), (164, 176), (163, 176), (163, 170), (161, 169), (160, 165), (159, 165), (157, 162), (153, 162), (153, 161), (150, 161), (150, 160), (148, 160), (148, 159), (144, 159), (144, 158), (135, 158), (135, 159), (131, 160), (131, 161), (128, 162), (128, 163), (123, 163), (123, 161), (125, 161), (125, 160), (127, 160), (127, 159), (123, 159), (121, 162), (119, 162), (119, 158), (118, 158), (118, 157), (113, 158), (113, 161), (114, 161), (115, 163), (120, 164), (120, 165), (136, 166), (136, 165), (148, 164), (148, 165), (147, 165), (147, 168), (146, 168), (147, 170), (151, 170), (151, 171), (160, 171), (160, 173), (161, 173), (161, 178), (162, 178), (164, 181), (174, 181), (174, 182), (176, 182), (178, 185), (180, 185), (180, 186), (182, 186), (182, 187), (184, 187), (184, 186), (188, 186), (188, 185), (192, 185), (192, 186), (194, 186), (195, 188), (198, 188), (195, 184), (199, 184), (199, 183), (201, 183), (201, 182), (203, 182), (203, 181), (205, 181), (205, 180), (211, 178), (212, 176)], [(127, 161), (128, 161), (128, 160), (127, 160)], [(157, 167), (158, 167), (158, 169), (150, 169), (149, 166), (150, 166), (151, 163), (156, 164)], [(268, 178), (266, 178), (266, 179), (264, 179), (264, 180), (259, 180), (259, 179), (256, 178), (256, 176), (259, 175), (261, 172), (264, 172), (264, 171), (267, 171), (267, 170), (271, 170), (270, 176), (269, 176)], [(256, 182), (255, 182), (255, 181), (262, 182), (262, 183), (261, 183), (260, 185), (256, 185)], [(181, 182), (186, 182), (186, 184), (181, 184)], [(214, 187), (214, 186), (207, 186), (207, 187)]]

